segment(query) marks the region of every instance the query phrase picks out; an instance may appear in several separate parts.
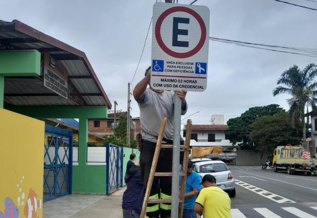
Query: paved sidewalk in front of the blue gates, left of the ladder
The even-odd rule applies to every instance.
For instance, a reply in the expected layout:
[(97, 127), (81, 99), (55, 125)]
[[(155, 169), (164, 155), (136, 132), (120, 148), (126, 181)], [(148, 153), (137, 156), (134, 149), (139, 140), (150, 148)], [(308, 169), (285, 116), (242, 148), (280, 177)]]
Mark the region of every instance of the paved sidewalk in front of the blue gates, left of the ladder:
[(43, 218), (122, 218), (121, 199), (126, 187), (110, 196), (68, 195), (43, 204)]

